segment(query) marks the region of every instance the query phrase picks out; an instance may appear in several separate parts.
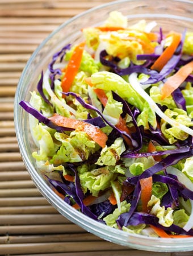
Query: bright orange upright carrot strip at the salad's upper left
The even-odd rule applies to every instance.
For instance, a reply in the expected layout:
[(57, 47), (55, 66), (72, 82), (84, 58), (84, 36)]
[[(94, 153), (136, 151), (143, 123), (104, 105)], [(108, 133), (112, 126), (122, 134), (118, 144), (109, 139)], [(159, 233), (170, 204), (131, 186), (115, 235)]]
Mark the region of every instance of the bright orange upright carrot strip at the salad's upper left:
[(62, 82), (61, 82), (63, 92), (68, 92), (69, 91), (70, 86), (73, 83), (74, 77), (78, 73), (78, 69), (81, 65), (81, 60), (82, 60), (82, 54), (83, 54), (84, 47), (85, 47), (85, 42), (82, 42), (74, 48), (74, 51), (72, 53), (72, 56), (69, 60), (68, 65), (65, 69), (65, 74), (64, 74), (64, 77), (63, 77)]

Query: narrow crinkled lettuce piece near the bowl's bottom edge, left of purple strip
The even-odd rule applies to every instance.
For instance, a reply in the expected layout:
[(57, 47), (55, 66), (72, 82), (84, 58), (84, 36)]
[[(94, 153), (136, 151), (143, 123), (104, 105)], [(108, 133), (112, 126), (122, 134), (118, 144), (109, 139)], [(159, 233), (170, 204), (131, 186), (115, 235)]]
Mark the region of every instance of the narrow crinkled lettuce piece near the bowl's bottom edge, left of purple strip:
[(131, 207), (131, 204), (128, 204), (127, 201), (121, 202), (121, 209), (119, 210), (116, 208), (113, 213), (108, 214), (106, 217), (103, 218), (103, 221), (106, 222), (107, 226), (111, 226), (112, 228), (118, 228), (116, 224), (116, 220), (118, 219), (119, 215), (125, 212), (128, 212)]

